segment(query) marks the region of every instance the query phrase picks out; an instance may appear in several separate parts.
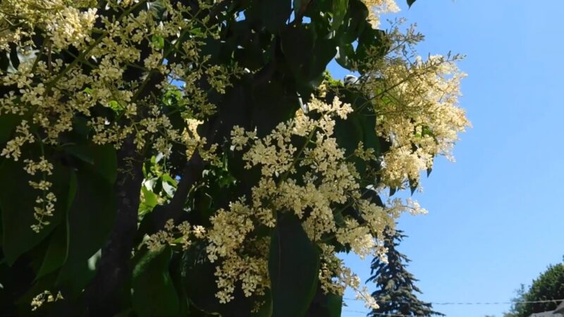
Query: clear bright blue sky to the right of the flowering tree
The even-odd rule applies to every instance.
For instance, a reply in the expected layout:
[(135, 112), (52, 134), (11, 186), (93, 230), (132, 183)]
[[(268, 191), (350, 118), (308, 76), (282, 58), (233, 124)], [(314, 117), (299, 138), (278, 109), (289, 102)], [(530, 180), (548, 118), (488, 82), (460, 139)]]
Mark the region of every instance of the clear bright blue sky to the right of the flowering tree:
[[(467, 54), (461, 104), (473, 125), (456, 163), (436, 160), (415, 194), (429, 215), (400, 219), (409, 236), (400, 251), (421, 299), (508, 302), (564, 256), (564, 1), (417, 0), (409, 10), (396, 1), (426, 35), (419, 54)], [(369, 259), (346, 259), (368, 278)], [(343, 317), (365, 316), (360, 302), (347, 304)], [(501, 317), (509, 305), (434, 308)]]

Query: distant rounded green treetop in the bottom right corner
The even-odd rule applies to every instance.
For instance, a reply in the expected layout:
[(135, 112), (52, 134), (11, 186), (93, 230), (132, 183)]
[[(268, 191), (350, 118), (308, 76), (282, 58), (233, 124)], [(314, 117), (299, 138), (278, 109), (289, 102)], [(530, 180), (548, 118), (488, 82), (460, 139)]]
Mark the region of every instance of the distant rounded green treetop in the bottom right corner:
[(548, 266), (546, 271), (533, 280), (528, 289), (525, 289), (525, 285), (521, 285), (520, 289), (517, 290), (517, 297), (512, 300), (514, 303), (510, 311), (505, 313), (504, 316), (528, 317), (532, 313), (553, 311), (560, 302), (520, 303), (549, 301), (551, 299), (564, 299), (564, 263)]

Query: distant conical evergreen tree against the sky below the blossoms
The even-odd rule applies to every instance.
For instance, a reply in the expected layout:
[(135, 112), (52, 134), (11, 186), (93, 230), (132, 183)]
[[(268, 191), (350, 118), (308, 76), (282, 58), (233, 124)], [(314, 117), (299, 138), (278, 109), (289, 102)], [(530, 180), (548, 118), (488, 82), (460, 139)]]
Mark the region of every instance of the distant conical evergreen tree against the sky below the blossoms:
[(379, 304), (379, 309), (374, 309), (369, 316), (386, 316), (388, 314), (401, 314), (405, 316), (444, 316), (433, 310), (431, 303), (417, 299), (421, 290), (415, 286), (417, 278), (409, 273), (405, 266), (411, 260), (400, 253), (396, 247), (406, 236), (403, 231), (396, 230), (384, 238), (384, 247), (388, 263), (379, 258), (372, 260), (371, 277), (367, 282), (376, 283), (376, 291), (372, 296)]

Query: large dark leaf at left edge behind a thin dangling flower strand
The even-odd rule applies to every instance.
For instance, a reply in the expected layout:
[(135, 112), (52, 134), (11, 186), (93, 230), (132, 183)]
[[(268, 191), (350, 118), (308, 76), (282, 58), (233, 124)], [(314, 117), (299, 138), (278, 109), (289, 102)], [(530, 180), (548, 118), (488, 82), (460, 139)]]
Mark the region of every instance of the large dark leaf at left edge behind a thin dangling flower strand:
[(70, 173), (67, 168), (59, 163), (54, 163), (53, 174), (48, 176), (49, 182), (53, 183), (51, 192), (57, 197), (54, 215), (46, 219), (50, 224), (38, 233), (30, 228), (31, 225), (37, 223), (33, 209), (36, 206), (35, 200), (42, 192), (30, 188), (29, 181), (38, 181), (41, 176), (33, 177), (27, 174), (23, 169), (22, 161), (21, 159), (18, 162), (6, 159), (0, 166), (3, 251), (4, 258), (9, 265), (16, 261), (20, 254), (44, 240), (63, 219), (66, 212), (65, 203)]

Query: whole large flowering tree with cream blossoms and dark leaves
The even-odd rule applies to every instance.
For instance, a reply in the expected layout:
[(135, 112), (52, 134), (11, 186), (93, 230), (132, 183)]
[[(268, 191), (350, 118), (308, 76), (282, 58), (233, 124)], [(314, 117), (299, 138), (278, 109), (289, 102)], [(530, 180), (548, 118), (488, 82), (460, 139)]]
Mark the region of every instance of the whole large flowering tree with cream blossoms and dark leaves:
[(0, 312), (340, 316), (345, 287), (375, 306), (336, 254), (385, 254), (424, 210), (383, 190), (417, 189), (469, 125), (460, 56), (417, 57), (387, 11), (1, 1)]

